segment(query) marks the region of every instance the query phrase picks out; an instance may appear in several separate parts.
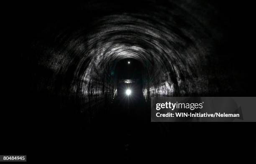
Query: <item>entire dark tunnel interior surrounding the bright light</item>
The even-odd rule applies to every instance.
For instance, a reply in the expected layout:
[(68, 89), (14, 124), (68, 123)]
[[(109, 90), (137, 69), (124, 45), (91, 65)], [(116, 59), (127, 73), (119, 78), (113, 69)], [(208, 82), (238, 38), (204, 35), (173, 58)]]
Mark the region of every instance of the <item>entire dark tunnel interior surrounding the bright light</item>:
[(39, 143), (28, 152), (46, 148), (97, 160), (92, 156), (104, 152), (111, 159), (107, 154), (115, 151), (119, 161), (254, 158), (253, 123), (150, 120), (151, 97), (255, 96), (254, 55), (247, 49), (253, 43), (244, 38), (248, 17), (238, 12), (240, 3), (97, 0), (15, 6), (20, 60), (13, 63), (13, 85), (20, 87), (10, 94), (20, 98), (9, 104), (22, 107), (14, 107), (17, 114), (6, 120), (30, 127), (20, 130), (22, 139)]

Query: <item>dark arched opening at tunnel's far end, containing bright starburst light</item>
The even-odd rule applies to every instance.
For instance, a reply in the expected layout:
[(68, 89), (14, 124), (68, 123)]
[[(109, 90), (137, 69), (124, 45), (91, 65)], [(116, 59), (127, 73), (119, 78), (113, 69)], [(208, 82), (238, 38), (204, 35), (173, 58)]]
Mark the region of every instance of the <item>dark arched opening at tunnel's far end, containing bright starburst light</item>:
[(111, 103), (111, 117), (122, 115), (122, 120), (135, 120), (145, 113), (143, 98), (143, 64), (132, 58), (126, 58), (115, 66), (116, 92)]

